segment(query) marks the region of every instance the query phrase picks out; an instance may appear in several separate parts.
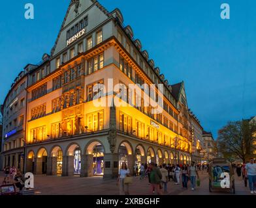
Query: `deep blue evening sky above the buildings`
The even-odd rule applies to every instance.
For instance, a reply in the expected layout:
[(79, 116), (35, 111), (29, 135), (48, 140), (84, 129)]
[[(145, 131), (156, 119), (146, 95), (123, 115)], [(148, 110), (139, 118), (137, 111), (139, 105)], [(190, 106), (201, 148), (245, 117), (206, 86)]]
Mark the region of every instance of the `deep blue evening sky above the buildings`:
[[(255, 0), (100, 0), (120, 8), (150, 58), (171, 84), (185, 81), (189, 108), (206, 131), (256, 115)], [(24, 18), (25, 3), (35, 19)], [(220, 18), (221, 3), (231, 19)], [(0, 12), (0, 103), (28, 63), (50, 53), (69, 1), (3, 1)]]

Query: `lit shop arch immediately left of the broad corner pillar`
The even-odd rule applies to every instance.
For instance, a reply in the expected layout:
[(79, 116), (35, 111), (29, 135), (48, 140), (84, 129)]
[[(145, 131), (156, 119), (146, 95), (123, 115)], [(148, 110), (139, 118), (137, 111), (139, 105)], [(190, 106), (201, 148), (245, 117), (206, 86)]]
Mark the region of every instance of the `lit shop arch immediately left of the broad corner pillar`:
[(104, 175), (104, 146), (98, 140), (86, 147), (85, 175)]

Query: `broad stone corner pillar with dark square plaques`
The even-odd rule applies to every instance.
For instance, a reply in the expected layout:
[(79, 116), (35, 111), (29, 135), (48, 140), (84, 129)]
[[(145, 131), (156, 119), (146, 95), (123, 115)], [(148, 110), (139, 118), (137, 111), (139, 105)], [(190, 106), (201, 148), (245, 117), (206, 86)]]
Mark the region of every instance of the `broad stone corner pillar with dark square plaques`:
[(118, 153), (105, 153), (103, 179), (116, 177), (118, 177)]

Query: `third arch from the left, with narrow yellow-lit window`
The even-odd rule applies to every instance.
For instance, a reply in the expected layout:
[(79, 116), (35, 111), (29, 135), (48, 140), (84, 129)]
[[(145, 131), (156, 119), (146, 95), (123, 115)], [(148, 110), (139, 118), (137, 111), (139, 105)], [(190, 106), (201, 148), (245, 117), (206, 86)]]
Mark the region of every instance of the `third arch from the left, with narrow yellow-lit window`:
[(63, 151), (59, 146), (54, 146), (51, 151), (52, 156), (52, 175), (61, 175), (63, 170)]

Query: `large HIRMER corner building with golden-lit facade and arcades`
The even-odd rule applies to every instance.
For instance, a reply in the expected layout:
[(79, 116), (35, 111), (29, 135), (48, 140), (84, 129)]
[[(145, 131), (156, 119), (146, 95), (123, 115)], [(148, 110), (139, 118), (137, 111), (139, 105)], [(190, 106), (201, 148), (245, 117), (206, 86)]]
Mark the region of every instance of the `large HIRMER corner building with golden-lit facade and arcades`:
[[(130, 84), (163, 85), (163, 112), (153, 114), (157, 107), (126, 90)], [(168, 84), (117, 8), (71, 1), (51, 54), (29, 70), (26, 90), (25, 172), (112, 178), (123, 161), (131, 172), (135, 163), (191, 162), (184, 83)], [(129, 105), (114, 103), (118, 92)], [(108, 105), (96, 106), (95, 94)]]

